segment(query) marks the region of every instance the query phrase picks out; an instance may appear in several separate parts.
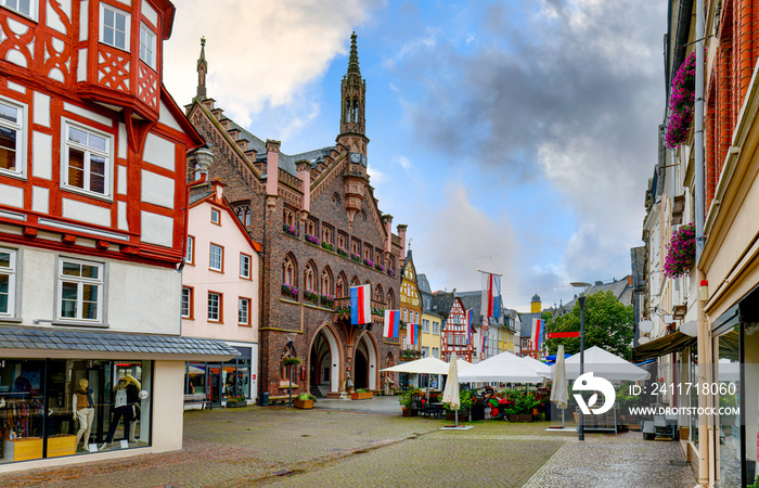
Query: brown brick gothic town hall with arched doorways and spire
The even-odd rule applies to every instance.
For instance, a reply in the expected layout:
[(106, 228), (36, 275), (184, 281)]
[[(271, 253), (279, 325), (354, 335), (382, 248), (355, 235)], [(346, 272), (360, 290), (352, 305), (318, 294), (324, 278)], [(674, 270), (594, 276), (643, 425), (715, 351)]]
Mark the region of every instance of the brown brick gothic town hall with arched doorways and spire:
[[(188, 117), (215, 155), (208, 180), (223, 181), (224, 196), (263, 247), (258, 385), (270, 395), (288, 389), (287, 356), (301, 359), (293, 367), (294, 391), (321, 386), (332, 397), (351, 383), (383, 388), (380, 370), (399, 356), (398, 339), (382, 334), (384, 309), (400, 306), (406, 226), (399, 226), (401, 236), (393, 234), (393, 217), (381, 214), (369, 184), (365, 82), (352, 40), (334, 146), (286, 155), (279, 141), (263, 142), (223, 116), (213, 99), (197, 97), (188, 106)], [(205, 72), (200, 75), (198, 93), (204, 93)], [(195, 170), (188, 167), (188, 180)], [(339, 309), (350, 305), (349, 287), (365, 283), (372, 285), (373, 323), (351, 325), (349, 312)]]

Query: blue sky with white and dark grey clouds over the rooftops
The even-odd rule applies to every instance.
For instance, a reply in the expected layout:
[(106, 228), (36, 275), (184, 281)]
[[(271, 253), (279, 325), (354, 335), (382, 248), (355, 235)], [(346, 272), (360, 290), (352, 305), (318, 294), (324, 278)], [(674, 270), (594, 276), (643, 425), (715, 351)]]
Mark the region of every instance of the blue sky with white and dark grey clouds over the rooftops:
[(502, 274), (509, 308), (631, 272), (665, 106), (666, 2), (173, 0), (164, 82), (260, 139), (334, 144), (350, 35), (371, 184), (433, 291)]

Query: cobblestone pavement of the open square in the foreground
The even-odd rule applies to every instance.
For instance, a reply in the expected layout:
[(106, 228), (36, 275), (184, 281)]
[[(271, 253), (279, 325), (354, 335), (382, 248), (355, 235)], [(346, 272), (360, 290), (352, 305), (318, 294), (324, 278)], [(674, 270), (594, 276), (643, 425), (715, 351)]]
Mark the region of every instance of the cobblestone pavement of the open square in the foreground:
[[(356, 402), (352, 402), (356, 403)], [(348, 402), (346, 404), (351, 404)], [(335, 408), (339, 404), (335, 404)], [(370, 404), (366, 410), (376, 409)], [(284, 407), (190, 411), (184, 448), (0, 475), (0, 486), (672, 486), (691, 487), (674, 442), (640, 433), (546, 433), (548, 423), (449, 422), (398, 414)], [(80, 460), (81, 458), (78, 458)], [(548, 463), (548, 464), (546, 464)], [(642, 478), (645, 473), (655, 473)], [(635, 481), (645, 480), (640, 484)]]

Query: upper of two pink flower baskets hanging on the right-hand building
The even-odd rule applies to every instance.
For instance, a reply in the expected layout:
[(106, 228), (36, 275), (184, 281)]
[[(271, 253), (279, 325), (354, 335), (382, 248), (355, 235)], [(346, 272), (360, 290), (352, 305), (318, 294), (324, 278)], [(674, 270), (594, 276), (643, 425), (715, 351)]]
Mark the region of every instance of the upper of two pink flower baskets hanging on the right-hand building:
[(693, 120), (693, 103), (696, 89), (696, 53), (691, 53), (678, 69), (669, 94), (669, 124), (665, 141), (667, 147), (685, 142)]

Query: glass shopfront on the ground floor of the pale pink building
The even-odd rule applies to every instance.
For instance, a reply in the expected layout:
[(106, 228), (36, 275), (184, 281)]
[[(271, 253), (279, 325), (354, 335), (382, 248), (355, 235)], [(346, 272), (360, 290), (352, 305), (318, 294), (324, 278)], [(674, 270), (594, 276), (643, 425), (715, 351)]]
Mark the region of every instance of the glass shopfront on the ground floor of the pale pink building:
[(221, 403), (235, 396), (252, 398), (252, 348), (234, 347), (240, 351), (240, 356), (230, 362), (186, 363), (184, 394), (205, 394), (214, 403)]

